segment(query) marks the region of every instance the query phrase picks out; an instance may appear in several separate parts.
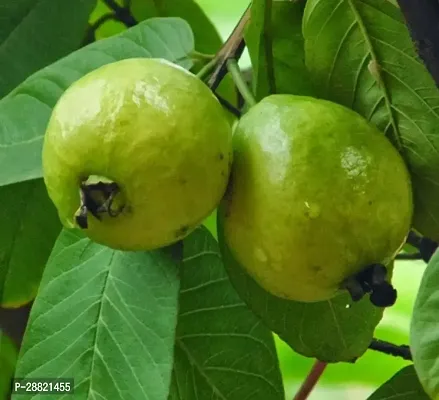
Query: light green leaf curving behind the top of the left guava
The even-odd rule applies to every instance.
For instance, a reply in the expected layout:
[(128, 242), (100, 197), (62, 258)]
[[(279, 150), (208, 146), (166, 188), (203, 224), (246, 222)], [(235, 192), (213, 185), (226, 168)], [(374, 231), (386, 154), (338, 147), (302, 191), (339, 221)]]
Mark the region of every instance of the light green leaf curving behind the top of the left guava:
[(130, 57), (162, 57), (190, 68), (192, 31), (182, 19), (157, 18), (69, 54), (0, 100), (0, 186), (40, 178), (41, 149), (53, 106), (86, 73)]

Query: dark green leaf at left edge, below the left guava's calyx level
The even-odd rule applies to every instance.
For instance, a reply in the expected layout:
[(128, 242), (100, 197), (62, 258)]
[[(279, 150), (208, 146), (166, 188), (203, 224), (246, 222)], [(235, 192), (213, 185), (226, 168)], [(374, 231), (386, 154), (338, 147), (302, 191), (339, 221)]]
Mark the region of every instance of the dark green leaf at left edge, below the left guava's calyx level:
[(0, 306), (33, 300), (61, 231), (42, 179), (0, 187)]

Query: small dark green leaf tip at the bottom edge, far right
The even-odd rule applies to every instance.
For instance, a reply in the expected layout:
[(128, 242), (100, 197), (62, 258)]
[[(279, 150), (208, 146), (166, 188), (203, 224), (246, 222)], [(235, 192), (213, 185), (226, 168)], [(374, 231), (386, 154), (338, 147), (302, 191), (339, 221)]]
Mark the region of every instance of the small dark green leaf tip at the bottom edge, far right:
[(430, 400), (427, 396), (413, 365), (398, 371), (392, 378), (379, 387), (367, 400)]

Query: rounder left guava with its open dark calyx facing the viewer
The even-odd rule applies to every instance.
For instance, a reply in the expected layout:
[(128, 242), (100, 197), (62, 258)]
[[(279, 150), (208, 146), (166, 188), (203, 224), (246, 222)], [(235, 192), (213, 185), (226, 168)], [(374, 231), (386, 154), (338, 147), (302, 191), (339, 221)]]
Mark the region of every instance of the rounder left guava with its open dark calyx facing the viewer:
[(163, 59), (131, 58), (63, 93), (42, 158), (65, 227), (86, 228), (114, 249), (150, 250), (181, 240), (217, 207), (232, 128), (195, 75)]

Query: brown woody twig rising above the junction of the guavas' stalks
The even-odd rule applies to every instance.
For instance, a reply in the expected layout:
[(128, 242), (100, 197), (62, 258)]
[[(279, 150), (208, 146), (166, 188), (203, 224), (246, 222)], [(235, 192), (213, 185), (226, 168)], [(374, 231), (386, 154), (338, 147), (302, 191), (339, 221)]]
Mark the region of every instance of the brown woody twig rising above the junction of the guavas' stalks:
[(227, 74), (227, 61), (230, 59), (239, 59), (244, 51), (244, 30), (250, 20), (250, 5), (242, 15), (235, 29), (224, 43), (221, 50), (215, 56), (216, 68), (207, 81), (212, 90), (216, 90), (224, 76)]

